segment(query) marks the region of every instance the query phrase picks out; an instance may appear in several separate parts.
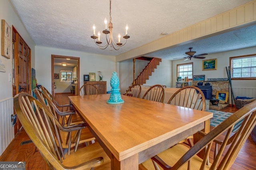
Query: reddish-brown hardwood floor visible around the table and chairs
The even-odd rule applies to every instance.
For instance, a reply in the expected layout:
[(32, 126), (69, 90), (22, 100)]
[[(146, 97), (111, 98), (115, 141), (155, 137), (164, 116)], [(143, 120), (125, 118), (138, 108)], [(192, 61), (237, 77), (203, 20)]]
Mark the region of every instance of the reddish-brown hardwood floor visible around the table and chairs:
[[(68, 96), (70, 95), (72, 94), (57, 94), (56, 100), (59, 104), (64, 105), (68, 103)], [(235, 107), (222, 109), (222, 111), (231, 113), (234, 113), (236, 110)], [(32, 142), (21, 145), (22, 142), (27, 140), (30, 140), (30, 138), (24, 129), (20, 130), (12, 141), (9, 152), (2, 154), (0, 161), (26, 161), (27, 170), (48, 170), (47, 164)], [(213, 148), (211, 152), (211, 157), (213, 157)], [(5, 156), (4, 158), (3, 155)], [(251, 136), (248, 137), (240, 150), (231, 170), (256, 170), (256, 144)]]

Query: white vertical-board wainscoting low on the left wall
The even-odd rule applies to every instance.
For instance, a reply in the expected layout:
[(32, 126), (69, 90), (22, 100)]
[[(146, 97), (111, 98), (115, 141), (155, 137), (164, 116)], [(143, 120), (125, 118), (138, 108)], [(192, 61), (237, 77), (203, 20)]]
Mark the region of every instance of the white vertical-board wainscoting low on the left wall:
[(0, 155), (14, 138), (14, 127), (11, 122), (13, 109), (13, 97), (0, 100)]

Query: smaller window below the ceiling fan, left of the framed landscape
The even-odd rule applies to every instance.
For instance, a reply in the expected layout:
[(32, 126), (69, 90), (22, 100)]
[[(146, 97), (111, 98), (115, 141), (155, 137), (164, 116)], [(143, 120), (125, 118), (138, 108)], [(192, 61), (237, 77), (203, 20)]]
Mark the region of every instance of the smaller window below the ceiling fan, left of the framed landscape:
[(177, 64), (177, 78), (184, 79), (188, 77), (189, 80), (193, 78), (193, 63)]

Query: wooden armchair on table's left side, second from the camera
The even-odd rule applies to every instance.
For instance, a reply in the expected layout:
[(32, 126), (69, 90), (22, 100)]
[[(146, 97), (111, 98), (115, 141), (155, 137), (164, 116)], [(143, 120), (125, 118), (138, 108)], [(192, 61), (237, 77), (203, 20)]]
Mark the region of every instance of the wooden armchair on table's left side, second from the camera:
[[(65, 116), (68, 116), (67, 123), (64, 123), (64, 121), (62, 121), (62, 126), (64, 128), (70, 128), (75, 126), (85, 127), (85, 123), (82, 121), (71, 123), (72, 115), (75, 113), (74, 111), (72, 111), (72, 113), (62, 113), (56, 108), (54, 103), (50, 99), (48, 99), (44, 93), (42, 93), (42, 91), (40, 91), (37, 88), (35, 88), (33, 91), (37, 99), (41, 103), (46, 104), (46, 106), (50, 109), (51, 113), (58, 121), (59, 116), (62, 116), (62, 120), (64, 120)], [(70, 149), (72, 147), (74, 147), (74, 152), (76, 152), (79, 144), (85, 143), (86, 146), (88, 146), (92, 140), (95, 140), (94, 136), (88, 128), (81, 128), (78, 130), (71, 130), (68, 132), (60, 131), (60, 135), (62, 139), (66, 139), (66, 142), (62, 142), (62, 147), (68, 149), (68, 154), (70, 154)]]

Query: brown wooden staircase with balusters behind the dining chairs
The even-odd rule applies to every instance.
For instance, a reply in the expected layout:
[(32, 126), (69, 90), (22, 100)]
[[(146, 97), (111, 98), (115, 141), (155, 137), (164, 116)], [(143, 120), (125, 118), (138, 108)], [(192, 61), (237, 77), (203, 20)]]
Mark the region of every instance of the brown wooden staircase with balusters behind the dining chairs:
[[(146, 80), (149, 79), (149, 76), (152, 75), (152, 72), (154, 72), (154, 69), (156, 69), (157, 65), (159, 65), (159, 63), (162, 61), (162, 59), (161, 58), (156, 58), (156, 57), (152, 57), (152, 58), (150, 58), (150, 57), (138, 57), (136, 59), (142, 59), (142, 60), (150, 61), (148, 63), (148, 65), (146, 65), (146, 67), (142, 70), (140, 75), (138, 75), (138, 77), (136, 79), (134, 79), (134, 81), (132, 83), (132, 85), (134, 85), (134, 84), (143, 85), (144, 83), (146, 83)], [(133, 62), (134, 62), (134, 65), (135, 65), (135, 59), (133, 60)], [(133, 75), (134, 74), (135, 74), (135, 67), (133, 69)], [(126, 91), (126, 93), (127, 92), (128, 92), (128, 90)]]

